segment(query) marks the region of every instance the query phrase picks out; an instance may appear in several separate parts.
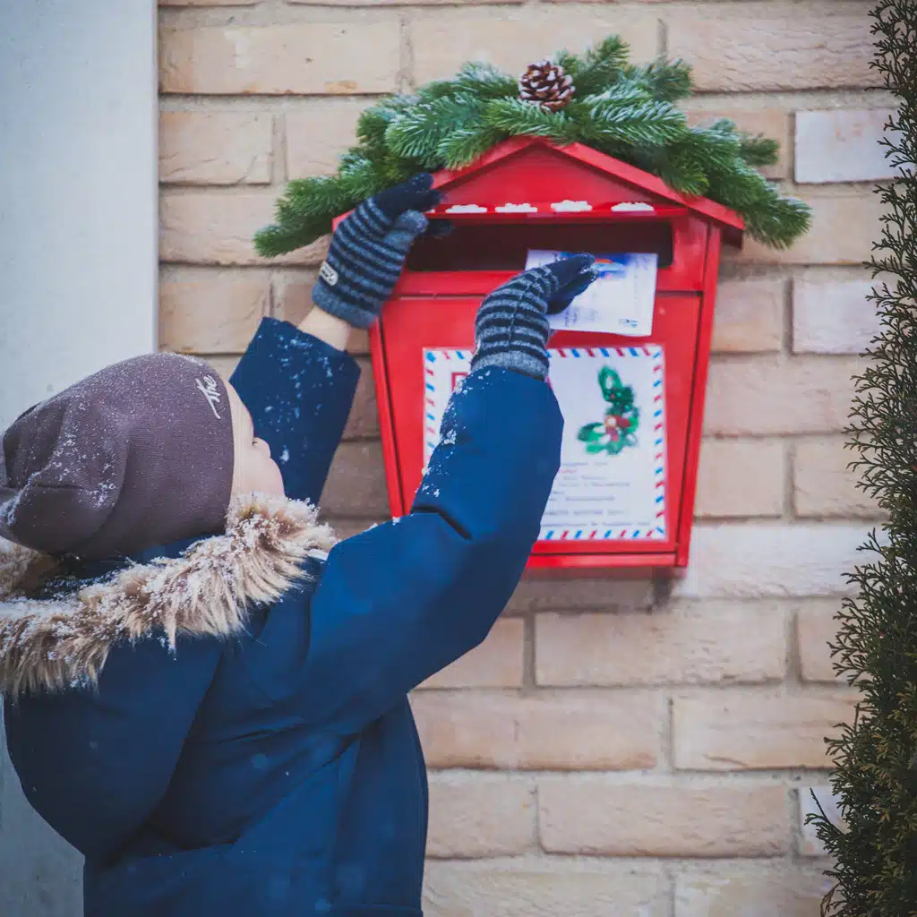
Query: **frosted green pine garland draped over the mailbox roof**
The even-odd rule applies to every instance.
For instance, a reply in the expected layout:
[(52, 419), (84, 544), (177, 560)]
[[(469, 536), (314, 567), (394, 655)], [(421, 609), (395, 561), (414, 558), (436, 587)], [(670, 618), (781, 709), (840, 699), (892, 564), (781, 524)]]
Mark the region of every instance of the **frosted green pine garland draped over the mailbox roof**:
[(520, 136), (583, 143), (657, 174), (676, 191), (710, 197), (744, 216), (749, 235), (774, 248), (806, 232), (808, 206), (782, 197), (757, 171), (777, 160), (775, 141), (746, 135), (731, 121), (689, 127), (675, 103), (691, 95), (691, 69), (681, 61), (638, 67), (627, 57), (618, 36), (580, 55), (555, 55), (576, 87), (559, 112), (520, 100), (516, 80), (484, 63), (466, 64), (454, 79), (415, 95), (383, 99), (360, 116), (358, 145), (341, 157), (337, 175), (289, 183), (277, 222), (256, 235), (256, 249), (271, 258), (301, 248), (371, 194), (420, 171), (463, 168)]

